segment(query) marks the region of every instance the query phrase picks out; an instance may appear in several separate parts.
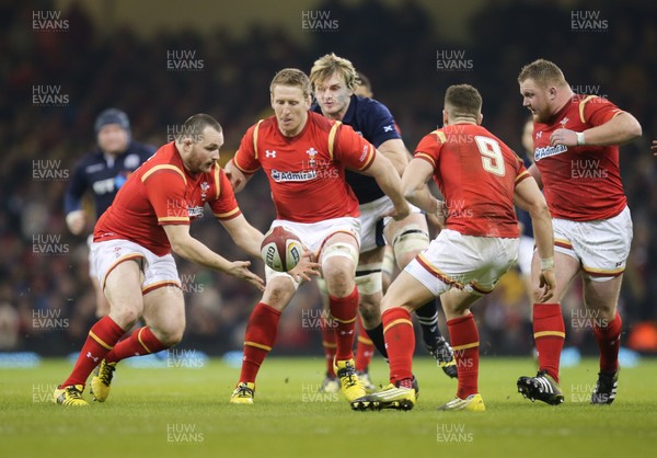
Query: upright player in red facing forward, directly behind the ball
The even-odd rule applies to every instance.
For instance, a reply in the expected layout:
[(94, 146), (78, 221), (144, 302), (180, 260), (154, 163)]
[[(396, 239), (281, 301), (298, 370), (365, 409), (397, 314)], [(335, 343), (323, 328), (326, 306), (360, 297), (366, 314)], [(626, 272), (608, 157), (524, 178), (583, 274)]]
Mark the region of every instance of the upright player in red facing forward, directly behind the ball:
[[(345, 169), (373, 176), (390, 196), (394, 218), (406, 217), (408, 205), (399, 173), (383, 154), (351, 127), (309, 112), (311, 87), (301, 70), (279, 71), (269, 90), (275, 115), (246, 130), (227, 172), (240, 191), (262, 168), (276, 206), (272, 227), (288, 227), (315, 254), (335, 323), (335, 371), (343, 393), (351, 401), (365, 394), (353, 359), (360, 227), (358, 199), (345, 180)], [(266, 278), (263, 298), (249, 319), (232, 403), (253, 403), (257, 371), (276, 341), (280, 313), (299, 286), (293, 276), (268, 267)]]

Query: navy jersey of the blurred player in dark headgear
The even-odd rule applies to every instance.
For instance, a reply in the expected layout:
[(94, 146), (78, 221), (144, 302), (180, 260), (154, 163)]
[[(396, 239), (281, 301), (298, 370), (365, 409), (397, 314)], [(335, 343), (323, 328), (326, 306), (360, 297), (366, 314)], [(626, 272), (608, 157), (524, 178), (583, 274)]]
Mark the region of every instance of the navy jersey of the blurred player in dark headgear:
[(128, 149), (112, 158), (96, 147), (76, 164), (64, 196), (65, 213), (68, 215), (80, 209), (82, 196), (90, 191), (94, 198), (96, 216), (101, 216), (128, 176), (154, 152), (153, 146), (130, 141)]

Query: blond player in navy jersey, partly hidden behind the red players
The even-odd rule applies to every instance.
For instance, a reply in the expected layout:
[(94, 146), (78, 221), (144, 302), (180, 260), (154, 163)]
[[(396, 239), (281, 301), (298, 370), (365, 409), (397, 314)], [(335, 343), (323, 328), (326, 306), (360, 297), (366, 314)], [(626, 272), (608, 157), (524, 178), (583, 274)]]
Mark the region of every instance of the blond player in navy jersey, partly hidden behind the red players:
[[(408, 163), (408, 151), (399, 134), (390, 111), (376, 100), (354, 94), (359, 80), (353, 64), (335, 54), (318, 59), (310, 72), (315, 103), (311, 111), (341, 121), (354, 128), (365, 139), (381, 151), (396, 170), (403, 173)], [(382, 298), (381, 263), (385, 241), (393, 247), (400, 268), (404, 268), (417, 253), (429, 244), (425, 216), (417, 209), (407, 218), (394, 221), (387, 218), (393, 206), (374, 180), (353, 172), (346, 172), (347, 183), (354, 190), (360, 204), (360, 259), (356, 270), (356, 284), (360, 295), (359, 336), (356, 351), (356, 370), (370, 390), (376, 387), (369, 380), (367, 368), (373, 346), (387, 357), (383, 330), (381, 327), (380, 301)], [(320, 289), (325, 295), (325, 288)], [(457, 376), (453, 352), (438, 329), (438, 314), (434, 301), (416, 311), (418, 314), (425, 347), (436, 357), (440, 367), (450, 377)], [(360, 321), (359, 321), (360, 323)], [(366, 332), (361, 332), (365, 329)], [(331, 331), (331, 330), (328, 330)], [(323, 332), (322, 343), (326, 355), (326, 378), (324, 391), (336, 389), (332, 371), (335, 344), (331, 332)], [(368, 339), (369, 337), (369, 339)]]

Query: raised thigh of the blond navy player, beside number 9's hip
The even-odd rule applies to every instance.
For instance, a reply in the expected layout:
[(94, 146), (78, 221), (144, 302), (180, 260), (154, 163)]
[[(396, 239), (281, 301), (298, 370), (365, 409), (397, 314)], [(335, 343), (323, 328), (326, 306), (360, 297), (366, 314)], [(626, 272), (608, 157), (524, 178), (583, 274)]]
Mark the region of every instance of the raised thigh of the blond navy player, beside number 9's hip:
[(400, 270), (403, 270), (417, 253), (429, 245), (429, 229), (427, 219), (422, 213), (411, 213), (406, 218), (395, 221), (391, 219), (385, 225), (385, 240), (394, 251)]

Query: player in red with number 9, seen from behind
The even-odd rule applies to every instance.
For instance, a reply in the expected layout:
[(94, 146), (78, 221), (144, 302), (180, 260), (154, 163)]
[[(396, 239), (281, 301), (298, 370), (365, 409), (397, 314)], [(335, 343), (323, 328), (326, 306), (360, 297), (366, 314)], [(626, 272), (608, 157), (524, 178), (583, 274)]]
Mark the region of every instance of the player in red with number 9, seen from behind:
[[(518, 255), (519, 229), (514, 203), (532, 218), (543, 263), (535, 296), (544, 301), (554, 288), (552, 224), (545, 199), (522, 161), (481, 126), (482, 98), (469, 84), (445, 94), (443, 128), (426, 135), (402, 178), (408, 202), (446, 227), (390, 285), (381, 301), (390, 385), (351, 402), (355, 410), (415, 405), (412, 359), (415, 334), (411, 312), (440, 296), (457, 360), (457, 397), (441, 410), (485, 410), (479, 392), (479, 331), (470, 307), (495, 288)], [(431, 195), (434, 178), (445, 201)]]

